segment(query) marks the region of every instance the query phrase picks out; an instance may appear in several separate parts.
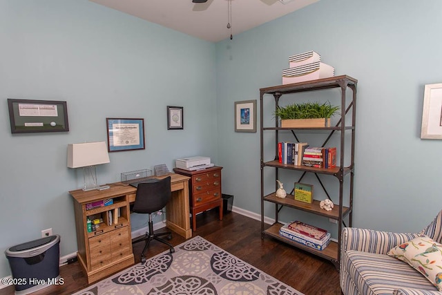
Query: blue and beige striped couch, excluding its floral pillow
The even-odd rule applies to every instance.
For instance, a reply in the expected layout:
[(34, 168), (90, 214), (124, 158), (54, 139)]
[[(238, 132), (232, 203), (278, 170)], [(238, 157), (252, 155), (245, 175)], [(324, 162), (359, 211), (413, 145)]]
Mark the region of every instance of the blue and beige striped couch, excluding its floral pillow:
[(345, 227), (340, 248), (340, 287), (345, 295), (430, 295), (439, 292), (407, 263), (387, 255), (397, 245), (425, 234), (441, 242), (442, 211), (416, 234)]

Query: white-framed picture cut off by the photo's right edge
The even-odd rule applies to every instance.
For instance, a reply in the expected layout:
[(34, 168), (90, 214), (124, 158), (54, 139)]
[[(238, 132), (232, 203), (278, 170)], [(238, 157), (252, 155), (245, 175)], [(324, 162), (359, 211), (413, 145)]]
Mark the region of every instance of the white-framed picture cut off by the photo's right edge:
[(442, 83), (425, 85), (421, 138), (442, 140)]

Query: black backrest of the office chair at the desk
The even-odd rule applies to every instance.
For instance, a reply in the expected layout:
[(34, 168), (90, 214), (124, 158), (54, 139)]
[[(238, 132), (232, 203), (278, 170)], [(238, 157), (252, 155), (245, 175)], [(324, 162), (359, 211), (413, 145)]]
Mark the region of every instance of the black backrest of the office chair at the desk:
[(142, 182), (138, 184), (132, 211), (135, 213), (153, 213), (164, 208), (170, 198), (170, 176), (156, 182)]

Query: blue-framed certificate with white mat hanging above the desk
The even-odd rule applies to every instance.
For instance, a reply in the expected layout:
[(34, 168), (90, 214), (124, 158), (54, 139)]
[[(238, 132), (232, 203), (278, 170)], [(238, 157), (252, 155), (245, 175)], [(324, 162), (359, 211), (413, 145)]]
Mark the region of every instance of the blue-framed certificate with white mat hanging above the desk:
[(108, 151), (132, 151), (144, 147), (144, 119), (106, 118)]

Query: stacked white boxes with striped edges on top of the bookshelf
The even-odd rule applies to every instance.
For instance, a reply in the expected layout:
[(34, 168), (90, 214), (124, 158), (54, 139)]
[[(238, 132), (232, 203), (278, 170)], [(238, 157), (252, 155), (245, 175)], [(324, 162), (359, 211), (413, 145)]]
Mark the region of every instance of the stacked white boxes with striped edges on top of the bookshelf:
[(289, 57), (289, 66), (282, 70), (282, 84), (334, 76), (334, 67), (320, 62), (320, 55), (314, 51), (292, 55)]

